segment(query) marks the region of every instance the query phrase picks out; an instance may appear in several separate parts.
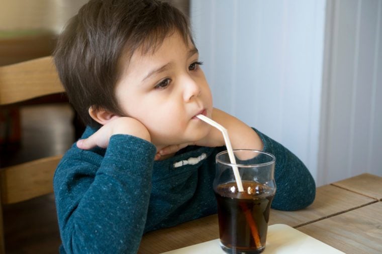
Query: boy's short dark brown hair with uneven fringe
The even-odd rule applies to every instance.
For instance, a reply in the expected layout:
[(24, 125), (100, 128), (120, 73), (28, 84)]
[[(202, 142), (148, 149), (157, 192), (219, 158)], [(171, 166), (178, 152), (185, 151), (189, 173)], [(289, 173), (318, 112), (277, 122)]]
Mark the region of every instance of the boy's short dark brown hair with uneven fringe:
[(99, 125), (88, 114), (90, 106), (123, 115), (114, 93), (122, 55), (129, 61), (138, 48), (154, 53), (175, 31), (194, 44), (188, 19), (158, 0), (90, 0), (71, 18), (58, 39), (54, 62), (85, 124)]

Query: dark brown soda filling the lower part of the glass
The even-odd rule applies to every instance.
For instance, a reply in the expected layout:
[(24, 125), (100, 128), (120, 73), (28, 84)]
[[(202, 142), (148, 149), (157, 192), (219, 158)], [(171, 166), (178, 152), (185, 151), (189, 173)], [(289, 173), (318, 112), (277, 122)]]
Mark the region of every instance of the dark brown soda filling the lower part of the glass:
[(228, 253), (260, 253), (265, 247), (275, 191), (256, 182), (242, 183), (244, 192), (238, 192), (236, 182), (215, 189), (221, 246)]

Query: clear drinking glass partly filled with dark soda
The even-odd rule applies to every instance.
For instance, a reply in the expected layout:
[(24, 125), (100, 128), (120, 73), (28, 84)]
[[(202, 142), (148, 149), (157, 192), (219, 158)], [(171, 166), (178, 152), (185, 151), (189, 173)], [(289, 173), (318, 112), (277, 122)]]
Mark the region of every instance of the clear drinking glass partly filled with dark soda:
[[(275, 157), (257, 150), (234, 150), (216, 155), (214, 191), (218, 203), (220, 245), (227, 253), (260, 253), (265, 248), (269, 210), (276, 192)], [(232, 166), (239, 170), (238, 191)]]

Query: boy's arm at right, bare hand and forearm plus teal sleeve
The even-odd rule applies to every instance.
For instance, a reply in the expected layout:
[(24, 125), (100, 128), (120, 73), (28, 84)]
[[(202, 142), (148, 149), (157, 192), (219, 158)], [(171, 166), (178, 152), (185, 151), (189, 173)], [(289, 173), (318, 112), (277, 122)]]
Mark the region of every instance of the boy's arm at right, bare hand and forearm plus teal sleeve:
[[(316, 185), (307, 167), (291, 151), (264, 134), (250, 128), (236, 117), (214, 108), (212, 118), (223, 125), (230, 136), (233, 149), (255, 149), (276, 157), (274, 176), (277, 185), (272, 208), (297, 210), (310, 205), (316, 193)], [(207, 123), (206, 123), (207, 124)], [(175, 153), (186, 145), (224, 146), (220, 131), (212, 128), (208, 137), (193, 144), (170, 146), (159, 151), (161, 155)]]

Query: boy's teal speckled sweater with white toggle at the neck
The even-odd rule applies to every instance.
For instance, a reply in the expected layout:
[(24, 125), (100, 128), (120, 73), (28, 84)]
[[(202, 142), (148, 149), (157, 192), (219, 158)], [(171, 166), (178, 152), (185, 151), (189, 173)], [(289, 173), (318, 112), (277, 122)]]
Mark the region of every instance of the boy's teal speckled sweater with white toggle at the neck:
[[(95, 131), (86, 128), (82, 138)], [(272, 208), (310, 205), (316, 187), (308, 169), (256, 132), (263, 150), (276, 157)], [(54, 176), (60, 252), (136, 253), (144, 232), (216, 213), (212, 182), (215, 155), (223, 150), (192, 146), (154, 161), (155, 146), (129, 135), (112, 136), (107, 149), (85, 151), (73, 144)]]

